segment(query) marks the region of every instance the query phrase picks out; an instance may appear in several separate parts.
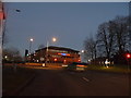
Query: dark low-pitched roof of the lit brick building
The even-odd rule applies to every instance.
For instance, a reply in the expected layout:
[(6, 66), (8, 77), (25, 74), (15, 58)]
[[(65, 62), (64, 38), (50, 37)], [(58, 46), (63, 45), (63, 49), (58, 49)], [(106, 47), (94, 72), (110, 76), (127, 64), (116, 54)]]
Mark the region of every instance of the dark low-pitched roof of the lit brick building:
[[(47, 47), (43, 48), (43, 49), (47, 49)], [(43, 50), (43, 49), (38, 49), (36, 51)], [(74, 49), (70, 49), (70, 48), (64, 48), (64, 47), (56, 47), (56, 46), (49, 46), (48, 49), (55, 49), (55, 50), (66, 50), (66, 51), (72, 51), (72, 52), (80, 52), (78, 50)]]

